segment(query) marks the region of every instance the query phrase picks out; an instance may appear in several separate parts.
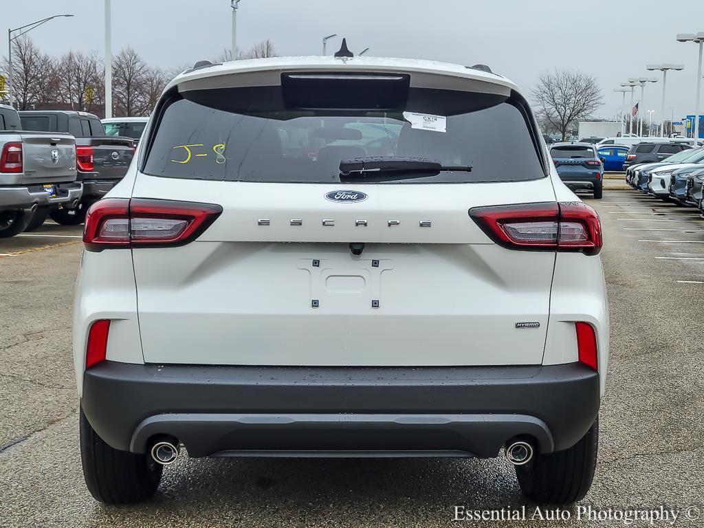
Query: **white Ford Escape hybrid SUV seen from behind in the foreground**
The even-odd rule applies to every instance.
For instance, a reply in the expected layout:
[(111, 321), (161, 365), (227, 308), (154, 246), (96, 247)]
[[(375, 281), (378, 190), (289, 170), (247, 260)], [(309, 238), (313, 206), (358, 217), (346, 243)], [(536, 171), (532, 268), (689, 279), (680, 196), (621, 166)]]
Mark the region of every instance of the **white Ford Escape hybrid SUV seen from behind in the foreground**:
[(191, 457), (476, 456), (589, 490), (601, 225), (504, 77), (367, 57), (199, 64), (87, 215), (75, 297), (93, 496)]

